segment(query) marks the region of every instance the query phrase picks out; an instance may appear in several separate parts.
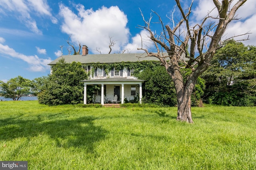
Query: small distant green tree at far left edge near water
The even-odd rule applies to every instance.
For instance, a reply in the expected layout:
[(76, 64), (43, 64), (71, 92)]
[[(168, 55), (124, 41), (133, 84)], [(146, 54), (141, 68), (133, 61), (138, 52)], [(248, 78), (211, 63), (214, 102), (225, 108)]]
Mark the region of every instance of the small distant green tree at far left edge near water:
[(31, 81), (23, 78), (22, 76), (17, 76), (11, 78), (6, 83), (0, 81), (0, 88), (4, 91), (5, 98), (12, 98), (12, 100), (20, 100), (24, 94), (28, 94), (31, 88)]

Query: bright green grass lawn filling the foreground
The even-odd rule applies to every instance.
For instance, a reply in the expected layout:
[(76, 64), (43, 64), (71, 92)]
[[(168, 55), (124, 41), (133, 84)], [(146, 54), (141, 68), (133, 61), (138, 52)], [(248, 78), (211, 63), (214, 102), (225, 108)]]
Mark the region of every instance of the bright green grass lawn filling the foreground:
[(256, 169), (255, 107), (48, 107), (0, 102), (0, 160), (29, 170)]

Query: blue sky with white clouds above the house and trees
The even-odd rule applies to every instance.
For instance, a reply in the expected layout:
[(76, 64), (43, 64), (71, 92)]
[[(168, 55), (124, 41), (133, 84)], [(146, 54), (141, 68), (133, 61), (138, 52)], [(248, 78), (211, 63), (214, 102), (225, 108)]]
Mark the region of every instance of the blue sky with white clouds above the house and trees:
[[(188, 6), (191, 1), (182, 2)], [(192, 19), (196, 23), (214, 4), (211, 0), (194, 2)], [(1, 0), (0, 80), (6, 82), (18, 75), (30, 80), (47, 76), (47, 64), (60, 57), (60, 46), (63, 54), (68, 54), (66, 40), (70, 35), (73, 45), (87, 45), (90, 54), (108, 53), (110, 37), (116, 43), (113, 53), (124, 49), (138, 53), (139, 34), (146, 37), (146, 32), (138, 28), (144, 25), (140, 10), (146, 20), (154, 10), (167, 24), (170, 20), (166, 16), (172, 15), (174, 5), (174, 0)], [(250, 32), (250, 40), (244, 43), (256, 45), (255, 9), (256, 1), (247, 0), (237, 12), (241, 19), (230, 23), (225, 36)], [(160, 32), (158, 27), (152, 28)]]

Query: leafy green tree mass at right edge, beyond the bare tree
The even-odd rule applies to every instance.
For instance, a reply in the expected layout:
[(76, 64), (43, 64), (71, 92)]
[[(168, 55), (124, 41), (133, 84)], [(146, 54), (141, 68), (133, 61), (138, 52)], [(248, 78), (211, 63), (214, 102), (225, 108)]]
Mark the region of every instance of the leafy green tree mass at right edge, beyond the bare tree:
[(224, 106), (256, 105), (256, 47), (234, 40), (216, 51), (206, 80), (204, 100)]

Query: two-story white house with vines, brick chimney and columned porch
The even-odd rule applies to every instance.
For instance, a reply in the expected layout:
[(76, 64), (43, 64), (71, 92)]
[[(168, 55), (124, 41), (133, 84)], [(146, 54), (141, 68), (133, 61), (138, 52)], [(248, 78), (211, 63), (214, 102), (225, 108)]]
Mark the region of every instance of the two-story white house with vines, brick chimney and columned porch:
[(133, 73), (136, 65), (146, 62), (159, 62), (156, 57), (147, 57), (146, 53), (126, 53), (126, 54), (88, 54), (88, 47), (83, 45), (82, 55), (62, 55), (55, 59), (50, 66), (56, 64), (60, 59), (67, 63), (80, 62), (88, 73), (88, 80), (84, 82), (84, 104), (87, 104), (87, 86), (98, 85), (101, 90), (94, 93), (94, 102), (112, 102), (117, 95), (117, 101), (124, 103), (124, 99), (134, 100), (134, 96), (139, 94), (139, 101), (142, 99), (142, 83)]

